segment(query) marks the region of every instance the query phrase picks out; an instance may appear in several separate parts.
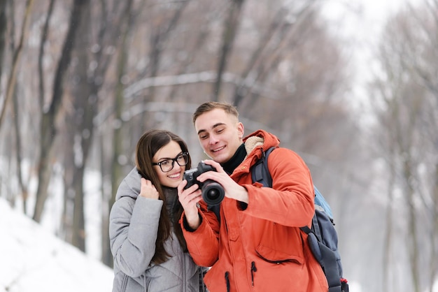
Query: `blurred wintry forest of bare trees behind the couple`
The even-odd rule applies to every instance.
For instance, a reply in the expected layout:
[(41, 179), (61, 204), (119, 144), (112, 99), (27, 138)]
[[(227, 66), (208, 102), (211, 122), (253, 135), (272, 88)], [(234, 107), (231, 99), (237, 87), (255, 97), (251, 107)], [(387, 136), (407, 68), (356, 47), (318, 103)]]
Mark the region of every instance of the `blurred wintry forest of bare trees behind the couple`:
[(178, 133), (197, 163), (192, 112), (228, 101), (309, 165), (347, 279), (433, 291), (438, 1), (416, 3), (388, 17), (358, 98), (327, 1), (0, 0), (0, 198), (111, 267), (141, 134)]

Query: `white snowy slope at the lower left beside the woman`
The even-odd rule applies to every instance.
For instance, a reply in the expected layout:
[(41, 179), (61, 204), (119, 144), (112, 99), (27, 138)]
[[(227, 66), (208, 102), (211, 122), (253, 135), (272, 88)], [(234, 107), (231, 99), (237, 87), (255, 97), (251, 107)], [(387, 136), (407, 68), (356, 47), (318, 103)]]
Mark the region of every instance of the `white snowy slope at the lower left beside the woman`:
[(113, 270), (0, 198), (0, 292), (108, 292)]

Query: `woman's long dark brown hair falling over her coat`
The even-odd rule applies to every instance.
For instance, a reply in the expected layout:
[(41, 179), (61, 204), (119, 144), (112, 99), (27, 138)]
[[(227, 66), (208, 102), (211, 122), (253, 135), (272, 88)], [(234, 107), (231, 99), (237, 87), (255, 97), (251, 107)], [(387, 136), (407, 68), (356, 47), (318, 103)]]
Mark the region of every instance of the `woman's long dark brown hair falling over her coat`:
[[(185, 243), (185, 239), (183, 236), (183, 231), (181, 230), (181, 225), (178, 223), (181, 214), (183, 213), (183, 206), (178, 201), (176, 209), (173, 214), (169, 214), (167, 212), (166, 207), (166, 197), (164, 196), (164, 192), (162, 189), (162, 185), (160, 184), (160, 180), (158, 179), (157, 173), (155, 173), (155, 169), (152, 165), (153, 156), (159, 149), (163, 146), (169, 144), (171, 141), (175, 141), (180, 145), (182, 152), (188, 152), (188, 147), (185, 144), (184, 140), (181, 139), (174, 133), (165, 130), (153, 129), (147, 131), (141, 136), (139, 142), (136, 147), (136, 168), (139, 170), (139, 173), (150, 180), (152, 184), (158, 191), (159, 199), (163, 200), (163, 207), (161, 209), (160, 222), (158, 225), (158, 235), (157, 241), (155, 242), (155, 255), (152, 258), (153, 263), (164, 263), (169, 258), (169, 254), (166, 249), (164, 249), (164, 242), (169, 238), (171, 234), (171, 223), (174, 224), (174, 231), (176, 234), (176, 238), (183, 247), (184, 251), (187, 251), (187, 244)], [(190, 159), (185, 169), (190, 169), (192, 164), (192, 160)], [(159, 168), (156, 168), (159, 169)], [(161, 170), (159, 170), (161, 171)], [(172, 220), (170, 219), (172, 217)]]

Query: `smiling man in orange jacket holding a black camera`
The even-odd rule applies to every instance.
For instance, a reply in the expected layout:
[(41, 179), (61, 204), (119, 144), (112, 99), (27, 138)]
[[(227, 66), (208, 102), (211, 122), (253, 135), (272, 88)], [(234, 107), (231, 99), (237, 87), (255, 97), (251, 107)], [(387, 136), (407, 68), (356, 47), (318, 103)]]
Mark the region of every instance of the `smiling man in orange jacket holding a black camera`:
[[(262, 151), (278, 147), (276, 136), (258, 130), (243, 138), (236, 108), (209, 102), (193, 115), (199, 143), (216, 168), (197, 177), (222, 185), (220, 220), (201, 200), (197, 184), (178, 186), (185, 212), (181, 224), (198, 265), (210, 266), (204, 281), (211, 292), (327, 291), (327, 280), (313, 258), (301, 226), (314, 213), (311, 174), (302, 159), (279, 147), (268, 159), (272, 188), (253, 184), (250, 168)], [(200, 209), (198, 209), (200, 205)]]

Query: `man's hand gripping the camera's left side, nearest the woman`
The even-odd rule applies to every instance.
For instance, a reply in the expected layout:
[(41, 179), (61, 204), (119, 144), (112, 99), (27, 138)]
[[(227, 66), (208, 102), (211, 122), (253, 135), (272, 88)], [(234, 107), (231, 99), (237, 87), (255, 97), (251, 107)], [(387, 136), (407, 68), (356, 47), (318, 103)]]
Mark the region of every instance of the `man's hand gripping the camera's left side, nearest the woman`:
[(202, 199), (202, 191), (197, 184), (192, 185), (192, 187), (188, 189), (184, 189), (186, 185), (187, 180), (183, 180), (178, 185), (178, 199), (184, 208), (185, 220), (187, 220), (190, 228), (196, 230), (201, 224), (197, 203)]

